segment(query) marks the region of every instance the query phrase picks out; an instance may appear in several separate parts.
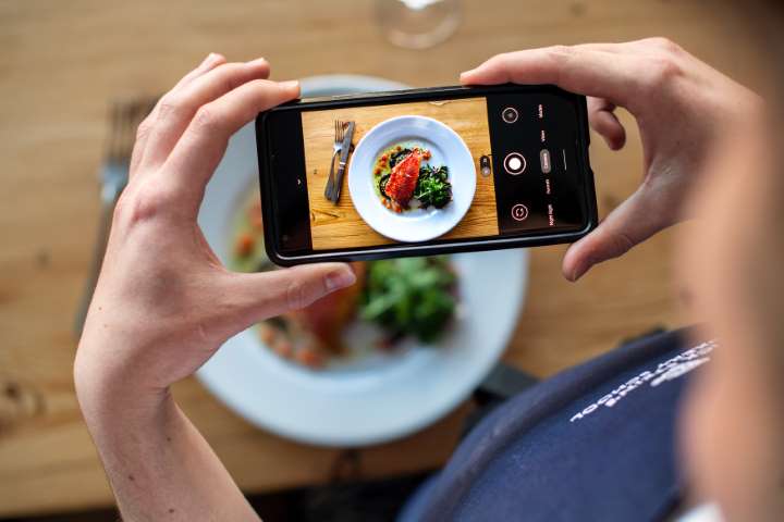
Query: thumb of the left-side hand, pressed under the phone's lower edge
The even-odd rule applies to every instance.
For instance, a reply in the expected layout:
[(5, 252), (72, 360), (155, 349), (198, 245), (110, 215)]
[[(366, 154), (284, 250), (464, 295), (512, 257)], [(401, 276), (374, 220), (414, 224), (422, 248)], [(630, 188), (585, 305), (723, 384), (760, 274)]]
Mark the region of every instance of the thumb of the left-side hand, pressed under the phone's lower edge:
[(344, 263), (321, 263), (256, 274), (232, 274), (232, 289), (242, 316), (253, 324), (314, 301), (356, 282)]

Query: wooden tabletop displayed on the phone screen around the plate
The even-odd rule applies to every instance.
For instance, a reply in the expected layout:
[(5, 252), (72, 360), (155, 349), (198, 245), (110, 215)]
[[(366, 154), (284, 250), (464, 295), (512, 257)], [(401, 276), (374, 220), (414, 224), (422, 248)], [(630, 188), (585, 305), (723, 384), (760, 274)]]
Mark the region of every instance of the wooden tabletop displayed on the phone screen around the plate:
[[(485, 98), (422, 101), (303, 113), (305, 165), (310, 202), (310, 236), (314, 249), (356, 248), (393, 243), (370, 228), (357, 213), (348, 191), (348, 175), (344, 176), (343, 190), (336, 206), (324, 198), (323, 188), (329, 178), (335, 121), (356, 123), (353, 138), (353, 144), (356, 145), (368, 130), (379, 123), (403, 115), (433, 117), (452, 127), (463, 138), (474, 158), (477, 187), (471, 207), (463, 220), (441, 238), (454, 239), (498, 234), (493, 176), (483, 176), (479, 173), (479, 158), (491, 152), (487, 101)], [(351, 165), (351, 159), (348, 164)], [(449, 165), (449, 162), (446, 164)], [(371, 172), (366, 174), (372, 175)], [(460, 187), (453, 188), (460, 190)]]

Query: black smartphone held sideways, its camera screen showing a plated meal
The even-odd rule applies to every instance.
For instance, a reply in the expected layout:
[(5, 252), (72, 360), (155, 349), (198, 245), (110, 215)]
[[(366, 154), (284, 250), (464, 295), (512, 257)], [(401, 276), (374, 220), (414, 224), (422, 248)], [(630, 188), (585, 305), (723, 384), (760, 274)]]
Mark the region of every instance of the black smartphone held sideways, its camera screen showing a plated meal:
[(597, 224), (586, 99), (555, 86), (297, 100), (256, 120), (280, 265), (572, 243)]

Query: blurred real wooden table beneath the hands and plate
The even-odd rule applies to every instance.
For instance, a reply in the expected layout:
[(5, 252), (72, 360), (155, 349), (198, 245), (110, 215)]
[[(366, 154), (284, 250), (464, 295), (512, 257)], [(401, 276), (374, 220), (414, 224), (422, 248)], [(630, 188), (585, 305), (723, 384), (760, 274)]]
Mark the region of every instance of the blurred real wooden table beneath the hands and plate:
[[(72, 320), (98, 215), (96, 171), (108, 100), (159, 92), (209, 51), (264, 55), (274, 78), (356, 73), (415, 86), (454, 84), (503, 50), (670, 36), (748, 80), (749, 45), (713, 2), (465, 1), (457, 34), (422, 52), (389, 45), (373, 2), (0, 1), (0, 517), (112, 502), (72, 384)], [(346, 16), (341, 16), (346, 13)], [(345, 57), (350, 58), (346, 59)], [(640, 178), (638, 136), (592, 163), (607, 214)], [(550, 375), (654, 325), (682, 323), (672, 232), (577, 285), (560, 272), (563, 247), (532, 252), (528, 300), (505, 360)], [(245, 423), (195, 380), (175, 387), (185, 411), (247, 492), (328, 480), (339, 455)], [(366, 476), (441, 464), (467, 407), (404, 440), (362, 451)]]

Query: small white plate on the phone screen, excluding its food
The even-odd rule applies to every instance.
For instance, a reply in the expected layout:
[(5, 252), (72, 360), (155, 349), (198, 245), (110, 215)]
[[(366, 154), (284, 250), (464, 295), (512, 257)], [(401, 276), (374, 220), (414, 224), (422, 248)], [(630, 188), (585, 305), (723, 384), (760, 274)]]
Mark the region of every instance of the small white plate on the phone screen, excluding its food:
[[(449, 166), (452, 202), (443, 209), (393, 212), (381, 204), (372, 174), (376, 159), (396, 144), (430, 150), (431, 165)], [(348, 191), (357, 212), (376, 232), (397, 241), (427, 241), (451, 231), (463, 219), (476, 191), (476, 167), (468, 147), (449, 126), (425, 116), (397, 116), (372, 127), (356, 146), (348, 165)]]

